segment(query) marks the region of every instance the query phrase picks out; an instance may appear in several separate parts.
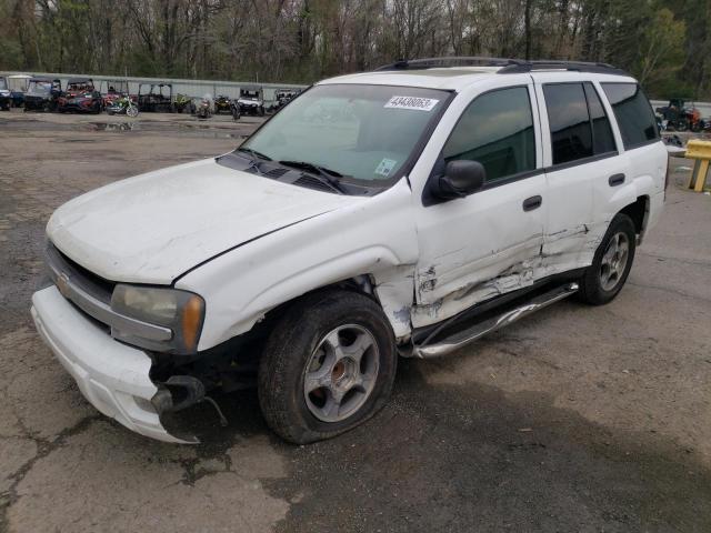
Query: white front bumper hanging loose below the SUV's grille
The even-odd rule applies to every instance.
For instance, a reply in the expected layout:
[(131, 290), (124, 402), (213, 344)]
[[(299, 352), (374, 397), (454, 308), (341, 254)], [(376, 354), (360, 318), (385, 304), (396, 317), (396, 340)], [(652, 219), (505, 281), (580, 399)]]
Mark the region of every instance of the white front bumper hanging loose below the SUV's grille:
[(32, 295), (31, 312), (40, 335), (94, 408), (141, 435), (181, 444), (198, 442), (173, 436), (163, 428), (156, 400), (166, 403), (164, 392), (157, 394), (159, 386), (149, 376), (152, 361), (146, 352), (113, 340), (54, 285)]

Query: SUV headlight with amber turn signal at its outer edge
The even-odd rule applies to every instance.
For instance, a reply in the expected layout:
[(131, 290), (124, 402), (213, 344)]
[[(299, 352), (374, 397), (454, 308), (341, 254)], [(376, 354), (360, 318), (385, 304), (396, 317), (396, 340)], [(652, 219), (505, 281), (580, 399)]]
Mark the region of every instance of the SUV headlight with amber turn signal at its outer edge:
[(172, 331), (170, 340), (144, 339), (130, 331), (113, 329), (111, 334), (126, 342), (161, 352), (193, 353), (198, 348), (204, 300), (198, 294), (177, 289), (156, 289), (119, 284), (113, 289), (111, 310), (118, 314)]

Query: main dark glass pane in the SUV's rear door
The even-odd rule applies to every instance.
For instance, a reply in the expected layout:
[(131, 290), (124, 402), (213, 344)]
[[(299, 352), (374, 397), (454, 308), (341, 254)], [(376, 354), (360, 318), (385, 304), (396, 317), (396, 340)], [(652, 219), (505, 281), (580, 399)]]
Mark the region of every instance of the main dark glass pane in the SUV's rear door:
[(553, 164), (593, 155), (588, 102), (582, 83), (543, 86), (551, 129)]

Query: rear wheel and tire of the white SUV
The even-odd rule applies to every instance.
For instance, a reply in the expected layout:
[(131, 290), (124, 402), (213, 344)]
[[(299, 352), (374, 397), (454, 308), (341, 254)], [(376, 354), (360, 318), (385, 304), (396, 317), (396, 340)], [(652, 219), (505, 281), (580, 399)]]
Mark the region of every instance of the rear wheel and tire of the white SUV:
[[(591, 305), (611, 302), (630, 274), (635, 245), (637, 232), (632, 219), (623, 213), (615, 214), (595, 251), (592, 264), (580, 280), (578, 298)], [(615, 247), (617, 251), (613, 252)]]

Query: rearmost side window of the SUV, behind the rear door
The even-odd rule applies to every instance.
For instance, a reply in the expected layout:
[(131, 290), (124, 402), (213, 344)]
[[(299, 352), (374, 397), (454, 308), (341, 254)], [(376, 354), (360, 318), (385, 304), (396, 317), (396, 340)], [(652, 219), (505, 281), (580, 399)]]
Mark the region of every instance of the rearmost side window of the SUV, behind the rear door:
[(602, 89), (614, 111), (625, 149), (659, 139), (654, 113), (637, 83), (602, 83)]

